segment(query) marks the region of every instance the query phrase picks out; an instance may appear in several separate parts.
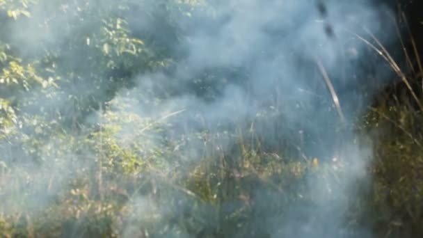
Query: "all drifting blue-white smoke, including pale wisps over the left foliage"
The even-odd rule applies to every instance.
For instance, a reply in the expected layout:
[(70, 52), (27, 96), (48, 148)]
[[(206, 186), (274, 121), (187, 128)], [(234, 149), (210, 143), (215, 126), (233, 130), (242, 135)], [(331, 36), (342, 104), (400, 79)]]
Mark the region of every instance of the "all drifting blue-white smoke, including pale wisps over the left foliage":
[[(98, 6), (89, 8), (109, 9), (113, 13), (113, 8), (107, 7), (109, 3), (101, 1)], [(163, 124), (168, 123), (165, 127), (168, 130), (160, 138), (150, 134), (143, 138), (154, 146), (164, 143), (163, 138), (182, 140), (184, 135), (207, 130), (221, 135), (214, 140), (219, 150), (229, 153), (239, 141), (225, 132), (247, 130), (252, 125), (255, 136), (269, 145), (269, 150), (280, 152), (282, 141), (289, 141), (292, 148), (298, 145), (309, 161), (317, 157), (330, 164), (327, 173), (310, 173), (307, 182), (301, 185), (305, 187), (304, 194), (298, 196), (308, 196), (313, 204), (294, 203), (284, 214), (273, 214), (266, 203), (287, 199), (282, 196), (285, 193), (266, 191), (259, 184), (252, 192), (258, 215), (250, 225), (266, 230), (269, 237), (350, 237), (351, 230), (345, 224), (346, 214), (352, 198), (360, 190), (356, 185), (369, 182), (365, 170), (372, 159), (372, 145), (358, 138), (351, 123), (364, 113), (372, 95), (368, 88), (374, 82), (368, 81), (365, 67), (374, 68), (376, 74), (386, 70), (385, 65), (368, 62), (367, 47), (354, 33), (366, 35), (371, 32), (389, 44), (392, 36), (392, 26), (387, 20), (389, 10), (366, 0), (325, 1), (322, 3), (324, 10), (319, 10), (315, 1), (227, 0), (206, 1), (182, 17), (165, 16), (166, 10), (162, 12), (156, 1), (133, 4), (133, 15), (125, 16), (129, 26), (139, 34), (153, 32), (157, 44), (177, 52), (178, 58), (169, 68), (134, 76), (133, 88), (122, 88), (116, 95), (109, 95), (113, 98), (111, 102), (134, 100), (127, 108), (115, 112), (157, 120), (178, 112), (163, 120)], [(60, 26), (63, 22), (79, 24), (81, 20), (63, 15), (54, 18), (61, 19), (60, 22), (49, 23), (49, 32), (39, 32), (34, 24), (40, 23), (38, 18), (44, 19), (49, 14), (46, 6), (40, 5), (31, 21), (24, 22), (23, 28), (13, 29), (11, 37), (22, 42), (24, 54), (39, 51), (39, 42), (60, 51), (72, 38), (72, 33)], [(143, 14), (146, 9), (151, 13)], [(154, 14), (158, 17), (150, 17)], [(163, 17), (170, 18), (173, 27), (183, 34), (173, 37), (161, 22)], [(87, 27), (89, 32), (90, 24), (81, 27)], [(83, 52), (66, 54), (66, 61), (81, 69), (81, 84), (65, 90), (79, 95), (95, 91), (95, 95), (106, 97), (103, 88), (98, 90), (84, 81), (89, 81), (89, 71), (96, 69), (79, 65)], [(340, 120), (336, 102), (333, 102), (317, 63), (324, 66), (335, 88), (346, 122)], [(196, 78), (201, 81), (193, 83)], [(362, 94), (362, 88), (366, 88), (367, 95)], [(162, 99), (155, 100), (157, 95)], [(65, 109), (65, 102), (41, 104)], [(86, 120), (100, 122), (95, 116)], [(122, 134), (136, 133), (125, 125), (122, 128)], [(199, 140), (186, 140), (175, 147), (178, 156), (189, 161), (188, 167), (203, 156), (204, 150), (204, 143)], [(181, 169), (189, 171), (191, 167)], [(180, 204), (175, 207), (180, 210), (167, 209), (169, 197), (179, 200)], [(146, 214), (159, 214), (166, 219), (154, 221), (168, 222), (164, 224), (168, 230), (163, 237), (190, 237), (177, 230), (171, 218), (179, 217), (193, 206), (200, 207), (198, 216), (206, 220), (203, 225), (212, 227), (218, 223), (218, 215), (210, 212), (212, 205), (191, 199), (186, 199), (184, 192), (171, 191), (164, 193), (161, 200), (151, 200), (147, 196), (134, 198), (129, 201), (132, 215), (126, 224), (138, 224), (135, 221), (149, 216)], [(236, 207), (236, 203), (228, 201), (228, 206)], [(370, 225), (367, 225), (362, 225), (362, 230), (353, 234), (370, 237), (371, 231), (367, 230)], [(134, 228), (136, 225), (122, 225), (124, 236), (131, 237)], [(234, 237), (254, 235), (240, 232)]]

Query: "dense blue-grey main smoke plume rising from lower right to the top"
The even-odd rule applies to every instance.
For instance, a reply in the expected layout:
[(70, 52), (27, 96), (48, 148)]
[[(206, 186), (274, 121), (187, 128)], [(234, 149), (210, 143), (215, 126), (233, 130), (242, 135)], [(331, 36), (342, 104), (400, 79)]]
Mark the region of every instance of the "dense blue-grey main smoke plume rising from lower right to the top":
[[(234, 0), (209, 4), (207, 9), (212, 8), (212, 13), (200, 7), (189, 19), (177, 22), (186, 34), (179, 42), (183, 56), (173, 70), (140, 75), (134, 89), (139, 94), (149, 90), (175, 93), (154, 109), (138, 106), (137, 113), (157, 116), (186, 110), (170, 119), (173, 129), (185, 133), (187, 128), (218, 132), (248, 128), (251, 122), (257, 122), (255, 133), (267, 144), (275, 143), (276, 134), (300, 144), (298, 133), (305, 134), (308, 139), (301, 148), (307, 157), (333, 159), (326, 175), (312, 174), (308, 178), (305, 193), (313, 205), (294, 203), (286, 213), (272, 214), (265, 204), (286, 198), (255, 187), (253, 193), (262, 215), (252, 218), (250, 225), (261, 227), (270, 237), (371, 237), (371, 223), (363, 222), (359, 226), (362, 230), (354, 232), (346, 224), (351, 203), (356, 203), (354, 198), (363, 189), (360, 186), (363, 181), (369, 182), (366, 169), (372, 159), (372, 144), (358, 138), (348, 124), (364, 112), (372, 95), (369, 84), (374, 84), (367, 79), (368, 69), (360, 67), (360, 63), (371, 62), (365, 44), (354, 33), (370, 32), (384, 43), (391, 43), (389, 10), (371, 1), (326, 1), (324, 14), (312, 1)], [(142, 18), (137, 20), (143, 22)], [(340, 122), (317, 68), (318, 61), (340, 98), (346, 125)], [(385, 65), (372, 67), (377, 74), (387, 69)], [(214, 88), (216, 81), (225, 81), (225, 86), (214, 88), (212, 95), (219, 95), (216, 98), (209, 98), (207, 91), (193, 92), (187, 81), (208, 70), (223, 70), (220, 78), (203, 82)], [(362, 94), (362, 88), (368, 95)], [(269, 113), (271, 119), (260, 124), (260, 113)], [(225, 148), (230, 150), (234, 143), (234, 138), (225, 141)], [(277, 147), (278, 143), (272, 150)], [(193, 143), (187, 148), (187, 157), (198, 159), (202, 147)], [(254, 237), (239, 230), (235, 237)]]

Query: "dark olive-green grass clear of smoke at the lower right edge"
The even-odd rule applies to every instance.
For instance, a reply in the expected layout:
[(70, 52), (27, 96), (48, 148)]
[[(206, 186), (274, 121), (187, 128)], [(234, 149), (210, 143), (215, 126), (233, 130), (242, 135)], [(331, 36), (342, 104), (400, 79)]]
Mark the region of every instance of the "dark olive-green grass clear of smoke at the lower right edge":
[(372, 204), (385, 237), (419, 237), (422, 223), (422, 112), (413, 107), (409, 91), (386, 94), (365, 119), (364, 129), (375, 141)]

